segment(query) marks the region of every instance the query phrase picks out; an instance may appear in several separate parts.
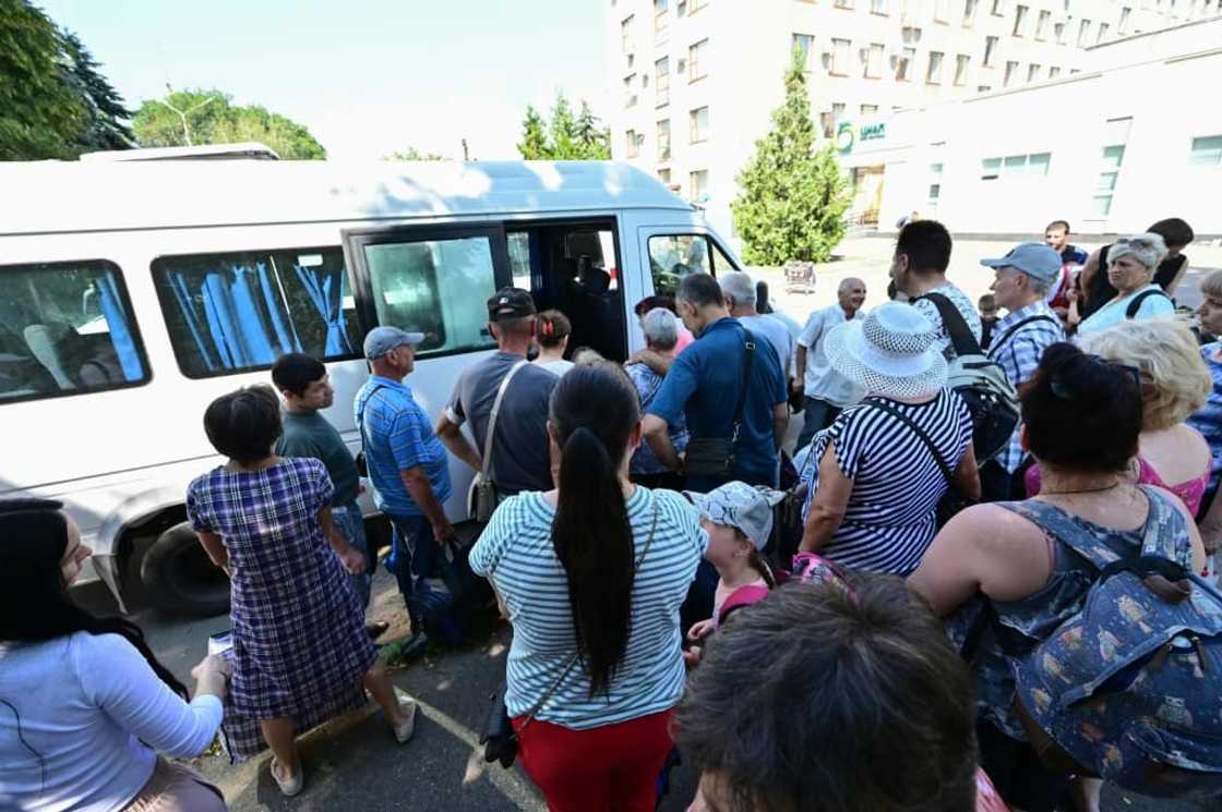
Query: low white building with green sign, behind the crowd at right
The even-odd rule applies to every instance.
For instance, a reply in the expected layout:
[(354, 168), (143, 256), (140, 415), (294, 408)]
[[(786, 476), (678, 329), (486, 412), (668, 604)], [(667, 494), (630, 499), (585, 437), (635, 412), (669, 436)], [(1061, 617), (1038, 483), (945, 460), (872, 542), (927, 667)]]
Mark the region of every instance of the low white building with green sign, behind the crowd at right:
[[(1222, 20), (1199, 33), (1217, 46), (901, 111), (885, 140), (855, 145), (842, 162), (885, 165), (884, 230), (916, 210), (957, 233), (1037, 233), (1053, 219), (1079, 233), (1123, 233), (1176, 216), (1198, 233), (1222, 234), (1222, 166), (1189, 162), (1194, 138), (1222, 136), (1222, 106), (1201, 104), (1202, 88), (1222, 77)], [(1123, 160), (1111, 210), (1100, 215), (1094, 198), (1110, 169), (1103, 148), (1117, 140)], [(986, 159), (1040, 153), (1051, 155), (1047, 175), (984, 179)], [(936, 209), (927, 205), (932, 162), (942, 164)]]

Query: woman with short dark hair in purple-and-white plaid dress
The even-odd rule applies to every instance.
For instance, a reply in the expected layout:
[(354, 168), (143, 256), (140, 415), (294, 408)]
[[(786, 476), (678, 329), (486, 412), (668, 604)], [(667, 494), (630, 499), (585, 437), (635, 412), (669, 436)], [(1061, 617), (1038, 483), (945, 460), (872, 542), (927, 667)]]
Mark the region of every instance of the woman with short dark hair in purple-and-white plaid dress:
[(400, 742), (414, 703), (400, 706), (365, 633), (345, 569), (364, 557), (331, 524), (334, 486), (316, 459), (276, 457), (280, 402), (255, 386), (214, 401), (204, 430), (229, 464), (187, 488), (187, 514), (213, 562), (232, 581), (233, 678), (225, 723), (235, 758), (271, 749), (285, 795), (303, 785), (296, 734), (364, 703), (385, 709)]

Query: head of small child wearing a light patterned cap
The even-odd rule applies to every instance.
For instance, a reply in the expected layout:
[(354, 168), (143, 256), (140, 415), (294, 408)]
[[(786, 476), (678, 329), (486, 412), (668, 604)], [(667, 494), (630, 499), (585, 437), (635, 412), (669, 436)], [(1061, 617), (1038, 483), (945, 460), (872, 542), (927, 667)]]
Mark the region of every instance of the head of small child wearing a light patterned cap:
[(709, 534), (705, 558), (719, 569), (736, 558), (758, 558), (772, 535), (772, 506), (782, 496), (737, 481), (709, 493), (693, 493), (692, 501), (700, 510), (700, 526)]

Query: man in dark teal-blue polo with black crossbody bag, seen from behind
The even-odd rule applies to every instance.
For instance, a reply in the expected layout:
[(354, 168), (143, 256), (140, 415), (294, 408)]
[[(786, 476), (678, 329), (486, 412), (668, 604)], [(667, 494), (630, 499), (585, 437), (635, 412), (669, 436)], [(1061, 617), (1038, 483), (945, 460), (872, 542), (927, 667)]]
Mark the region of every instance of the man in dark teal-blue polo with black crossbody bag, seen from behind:
[[(730, 315), (717, 281), (690, 274), (679, 283), (676, 304), (683, 324), (697, 341), (679, 353), (649, 404), (645, 440), (664, 465), (678, 470), (683, 460), (675, 451), (668, 427), (687, 418), (688, 454), (700, 440), (732, 437), (734, 410), (743, 394), (747, 331)], [(781, 361), (771, 344), (755, 337), (750, 379), (743, 401), (742, 425), (733, 447), (733, 468), (711, 473), (688, 466), (688, 487), (708, 492), (731, 480), (776, 487), (778, 455), (789, 422), (788, 397)]]

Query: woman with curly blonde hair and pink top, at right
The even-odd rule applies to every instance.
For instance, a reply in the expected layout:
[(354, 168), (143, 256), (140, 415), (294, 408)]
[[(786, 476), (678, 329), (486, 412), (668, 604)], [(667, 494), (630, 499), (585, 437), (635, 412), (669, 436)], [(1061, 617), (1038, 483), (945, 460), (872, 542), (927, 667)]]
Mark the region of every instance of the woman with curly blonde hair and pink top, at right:
[[(1080, 341), (1081, 349), (1133, 368), (1141, 382), (1141, 436), (1130, 479), (1178, 496), (1196, 514), (1210, 481), (1212, 458), (1199, 431), (1184, 420), (1213, 390), (1196, 339), (1172, 319), (1127, 321)], [(1039, 466), (1026, 471), (1026, 493), (1040, 492)]]

